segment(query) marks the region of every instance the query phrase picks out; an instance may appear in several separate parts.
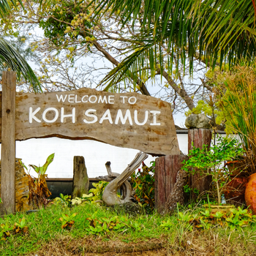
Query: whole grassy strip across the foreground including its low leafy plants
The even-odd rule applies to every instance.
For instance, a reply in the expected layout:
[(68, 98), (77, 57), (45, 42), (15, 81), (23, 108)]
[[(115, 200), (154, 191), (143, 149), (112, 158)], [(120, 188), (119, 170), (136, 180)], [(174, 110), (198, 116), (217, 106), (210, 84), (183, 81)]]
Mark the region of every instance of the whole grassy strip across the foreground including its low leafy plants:
[[(0, 230), (14, 227), (15, 222), (20, 225), (10, 236), (2, 232), (0, 255), (256, 255), (254, 218), (241, 222), (236, 218), (239, 214), (234, 214), (233, 222), (218, 216), (213, 222), (213, 217), (208, 217), (208, 225), (200, 225), (200, 218), (206, 223), (201, 212), (208, 214), (197, 204), (171, 215), (133, 217), (90, 203), (51, 205), (30, 214), (0, 218)], [(23, 217), (25, 224), (20, 222)], [(235, 223), (236, 219), (240, 222)]]

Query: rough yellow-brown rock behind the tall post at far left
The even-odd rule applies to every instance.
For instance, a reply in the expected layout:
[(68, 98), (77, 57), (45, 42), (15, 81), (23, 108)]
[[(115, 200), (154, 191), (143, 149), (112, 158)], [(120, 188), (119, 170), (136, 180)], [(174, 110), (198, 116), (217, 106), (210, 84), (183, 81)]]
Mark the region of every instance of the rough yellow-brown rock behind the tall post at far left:
[[(28, 211), (29, 206), (29, 177), (26, 175), (24, 168), (15, 161), (15, 211)], [(1, 161), (0, 161), (0, 181), (1, 181)], [(1, 182), (0, 182), (1, 192)], [(1, 195), (0, 195), (1, 197)]]

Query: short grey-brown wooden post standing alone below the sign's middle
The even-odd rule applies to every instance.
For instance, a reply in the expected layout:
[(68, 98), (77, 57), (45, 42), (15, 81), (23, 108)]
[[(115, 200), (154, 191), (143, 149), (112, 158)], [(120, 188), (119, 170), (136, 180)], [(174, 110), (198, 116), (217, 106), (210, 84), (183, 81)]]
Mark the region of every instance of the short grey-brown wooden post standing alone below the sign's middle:
[(83, 157), (74, 157), (72, 198), (82, 197), (89, 192), (89, 178)]

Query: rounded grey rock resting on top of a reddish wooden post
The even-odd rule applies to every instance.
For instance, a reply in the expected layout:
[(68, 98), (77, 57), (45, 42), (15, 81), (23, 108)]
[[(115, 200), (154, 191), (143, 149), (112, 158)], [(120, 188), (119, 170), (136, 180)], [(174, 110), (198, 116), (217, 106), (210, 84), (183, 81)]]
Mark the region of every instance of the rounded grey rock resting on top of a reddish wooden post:
[(213, 122), (203, 113), (191, 114), (186, 118), (185, 126), (187, 129), (211, 129)]

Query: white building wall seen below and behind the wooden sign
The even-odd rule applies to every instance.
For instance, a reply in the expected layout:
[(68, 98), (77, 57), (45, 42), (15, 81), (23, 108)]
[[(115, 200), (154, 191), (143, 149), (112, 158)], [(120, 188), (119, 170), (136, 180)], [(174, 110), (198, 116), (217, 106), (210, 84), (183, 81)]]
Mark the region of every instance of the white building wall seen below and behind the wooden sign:
[[(178, 134), (180, 150), (188, 153), (187, 134)], [(115, 173), (121, 173), (138, 153), (131, 148), (118, 148), (94, 140), (65, 140), (60, 138), (30, 139), (16, 142), (16, 157), (21, 158), (24, 164), (43, 165), (46, 158), (55, 153), (53, 162), (48, 167), (48, 178), (72, 178), (73, 157), (83, 156), (86, 161), (89, 178), (105, 176), (105, 162), (111, 162)], [(146, 165), (154, 157), (148, 156)], [(33, 176), (37, 174), (30, 168)]]

